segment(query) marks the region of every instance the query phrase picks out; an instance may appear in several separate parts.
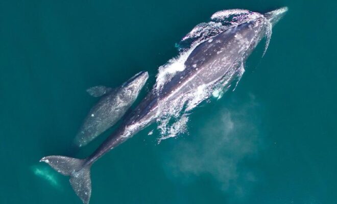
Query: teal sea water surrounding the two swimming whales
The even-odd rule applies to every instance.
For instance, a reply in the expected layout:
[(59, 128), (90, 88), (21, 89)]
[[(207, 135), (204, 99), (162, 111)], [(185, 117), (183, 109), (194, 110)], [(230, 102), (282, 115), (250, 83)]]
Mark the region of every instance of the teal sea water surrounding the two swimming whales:
[[(188, 133), (155, 125), (100, 159), (90, 203), (337, 203), (337, 3), (317, 1), (1, 1), (0, 203), (81, 203), (46, 155), (70, 143), (97, 98), (148, 70), (216, 11), (289, 11), (234, 92), (204, 103)], [(143, 95), (145, 94), (142, 93)]]

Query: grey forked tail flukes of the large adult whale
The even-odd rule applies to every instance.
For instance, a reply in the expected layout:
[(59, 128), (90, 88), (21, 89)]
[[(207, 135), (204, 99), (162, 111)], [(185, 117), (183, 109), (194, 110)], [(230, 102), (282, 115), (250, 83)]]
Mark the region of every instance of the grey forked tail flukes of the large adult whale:
[(89, 203), (91, 195), (90, 166), (84, 166), (86, 160), (63, 156), (43, 157), (40, 162), (49, 164), (63, 175), (70, 176), (69, 182), (84, 204)]

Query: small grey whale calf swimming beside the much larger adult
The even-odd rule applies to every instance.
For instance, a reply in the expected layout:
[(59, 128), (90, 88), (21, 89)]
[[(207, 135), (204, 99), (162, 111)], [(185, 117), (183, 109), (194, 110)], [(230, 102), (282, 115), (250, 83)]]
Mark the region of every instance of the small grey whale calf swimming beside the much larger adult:
[(116, 89), (104, 86), (89, 88), (87, 92), (90, 95), (102, 98), (89, 111), (74, 143), (77, 146), (88, 144), (121, 119), (136, 100), (148, 78), (148, 72), (141, 71)]

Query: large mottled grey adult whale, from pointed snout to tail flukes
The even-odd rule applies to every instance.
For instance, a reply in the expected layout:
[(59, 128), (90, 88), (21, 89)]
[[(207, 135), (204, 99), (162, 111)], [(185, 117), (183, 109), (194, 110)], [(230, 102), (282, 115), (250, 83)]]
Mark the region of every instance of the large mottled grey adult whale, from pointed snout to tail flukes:
[(88, 158), (48, 156), (40, 161), (49, 164), (63, 175), (69, 175), (70, 184), (76, 194), (83, 203), (88, 203), (91, 195), (90, 167), (95, 161), (153, 123), (165, 111), (165, 107), (172, 108), (175, 101), (181, 100), (182, 96), (188, 96), (190, 93), (198, 95), (200, 90), (221, 84), (224, 79), (226, 83), (230, 82), (234, 77), (231, 73), (240, 72), (257, 43), (286, 10), (281, 8), (257, 15), (255, 19), (230, 27), (198, 44), (184, 62), (184, 69), (159, 89), (155, 86), (126, 117), (123, 124)]

